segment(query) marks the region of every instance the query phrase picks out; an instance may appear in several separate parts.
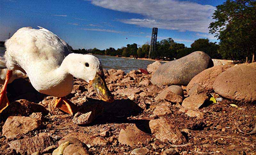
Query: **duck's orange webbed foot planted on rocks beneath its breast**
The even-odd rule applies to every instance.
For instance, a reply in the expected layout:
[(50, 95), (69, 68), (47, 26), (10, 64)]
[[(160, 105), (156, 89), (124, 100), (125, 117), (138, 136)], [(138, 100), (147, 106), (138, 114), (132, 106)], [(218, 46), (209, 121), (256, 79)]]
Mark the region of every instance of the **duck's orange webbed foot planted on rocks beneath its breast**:
[(68, 101), (66, 97), (60, 97), (55, 101), (54, 108), (59, 108), (62, 111), (74, 115), (76, 113), (77, 107), (74, 103)]

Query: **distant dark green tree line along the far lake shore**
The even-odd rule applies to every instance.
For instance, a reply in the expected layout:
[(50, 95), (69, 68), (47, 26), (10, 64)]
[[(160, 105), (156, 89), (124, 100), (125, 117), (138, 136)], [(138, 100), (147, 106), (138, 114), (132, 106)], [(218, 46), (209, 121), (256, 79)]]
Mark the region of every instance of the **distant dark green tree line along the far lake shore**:
[[(148, 58), (150, 45), (145, 43), (142, 46), (133, 43), (127, 44), (126, 47), (118, 48), (117, 50), (113, 47), (105, 50), (93, 49), (78, 49), (73, 50), (74, 53), (92, 53), (100, 55), (111, 55), (111, 56), (123, 56), (123, 57), (136, 57), (136, 58)], [(209, 39), (197, 39), (191, 47), (188, 48), (184, 44), (176, 43), (172, 38), (163, 39), (156, 43), (156, 50), (152, 53), (153, 59), (162, 60), (174, 60), (186, 56), (195, 51), (204, 51), (211, 58), (220, 59), (221, 56), (218, 54), (219, 45), (210, 42)]]

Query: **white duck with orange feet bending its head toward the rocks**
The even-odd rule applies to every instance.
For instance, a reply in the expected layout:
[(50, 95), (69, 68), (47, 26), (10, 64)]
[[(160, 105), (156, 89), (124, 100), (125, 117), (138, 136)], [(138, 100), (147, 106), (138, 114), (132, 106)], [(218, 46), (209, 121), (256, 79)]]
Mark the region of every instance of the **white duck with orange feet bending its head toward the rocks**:
[(71, 115), (76, 109), (65, 96), (72, 91), (73, 77), (92, 84), (103, 101), (113, 102), (100, 60), (88, 54), (70, 53), (70, 46), (64, 40), (39, 28), (20, 28), (5, 42), (8, 71), (0, 93), (0, 113), (9, 105), (6, 86), (14, 70), (27, 74), (32, 86), (40, 93), (59, 97), (55, 107)]

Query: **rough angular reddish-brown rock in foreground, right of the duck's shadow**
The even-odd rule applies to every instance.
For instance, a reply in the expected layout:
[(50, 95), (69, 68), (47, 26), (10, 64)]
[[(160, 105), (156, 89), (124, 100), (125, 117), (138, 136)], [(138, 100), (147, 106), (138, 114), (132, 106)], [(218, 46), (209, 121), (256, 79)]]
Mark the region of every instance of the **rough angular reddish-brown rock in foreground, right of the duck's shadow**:
[(159, 118), (149, 121), (149, 127), (153, 135), (163, 142), (181, 144), (186, 142), (179, 128), (166, 118)]

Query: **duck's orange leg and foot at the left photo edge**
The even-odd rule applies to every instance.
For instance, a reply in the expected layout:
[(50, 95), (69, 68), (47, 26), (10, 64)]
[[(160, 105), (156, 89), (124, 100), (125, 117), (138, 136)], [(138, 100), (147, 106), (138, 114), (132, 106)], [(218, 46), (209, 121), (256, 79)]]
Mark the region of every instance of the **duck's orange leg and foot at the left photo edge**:
[(12, 77), (12, 70), (8, 70), (6, 73), (6, 78), (4, 81), (3, 88), (0, 92), (0, 113), (10, 104), (7, 94), (6, 94), (6, 89), (7, 89), (7, 84), (10, 78)]

